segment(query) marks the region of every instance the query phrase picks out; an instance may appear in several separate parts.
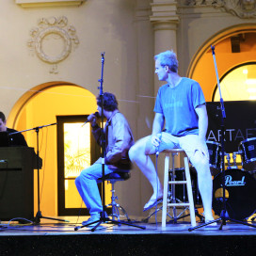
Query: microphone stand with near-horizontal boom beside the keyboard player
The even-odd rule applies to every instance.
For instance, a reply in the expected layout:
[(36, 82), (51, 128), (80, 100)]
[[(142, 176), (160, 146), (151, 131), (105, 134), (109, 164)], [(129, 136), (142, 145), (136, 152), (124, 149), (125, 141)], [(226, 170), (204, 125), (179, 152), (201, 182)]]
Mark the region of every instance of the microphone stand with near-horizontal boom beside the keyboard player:
[(19, 132), (15, 132), (15, 133), (9, 134), (9, 136), (11, 136), (11, 135), (20, 134), (20, 133), (23, 133), (23, 132), (28, 132), (28, 131), (31, 131), (31, 130), (35, 130), (36, 133), (37, 133), (38, 212), (37, 212), (37, 215), (34, 218), (34, 224), (39, 224), (40, 223), (40, 218), (47, 218), (47, 219), (64, 221), (64, 222), (70, 222), (69, 220), (42, 216), (41, 212), (40, 212), (40, 150), (39, 150), (39, 132), (40, 132), (40, 129), (42, 129), (44, 127), (47, 127), (47, 126), (51, 126), (51, 125), (56, 125), (56, 122), (55, 123), (51, 123), (51, 124), (47, 124), (47, 125), (38, 126), (38, 127), (35, 127), (35, 128), (31, 128), (31, 129), (27, 129), (27, 130), (24, 130), (24, 131), (19, 131)]

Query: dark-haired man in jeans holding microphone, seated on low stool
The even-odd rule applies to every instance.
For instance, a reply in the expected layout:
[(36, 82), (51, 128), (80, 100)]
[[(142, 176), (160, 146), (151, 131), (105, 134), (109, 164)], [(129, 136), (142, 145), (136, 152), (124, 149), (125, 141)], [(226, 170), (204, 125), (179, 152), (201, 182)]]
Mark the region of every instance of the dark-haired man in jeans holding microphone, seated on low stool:
[[(114, 171), (128, 171), (131, 162), (128, 151), (134, 145), (134, 137), (128, 121), (120, 113), (118, 102), (114, 94), (104, 92), (104, 106), (101, 106), (101, 97), (97, 97), (97, 105), (100, 116), (102, 111), (106, 118), (104, 126), (105, 137), (105, 157), (104, 174)], [(88, 116), (88, 121), (92, 127), (92, 134), (97, 143), (102, 144), (102, 128), (96, 123), (95, 114)], [(100, 219), (103, 212), (102, 200), (100, 197), (97, 180), (102, 177), (102, 158), (98, 159), (91, 167), (83, 169), (75, 179), (77, 190), (88, 207), (90, 217), (88, 221), (83, 221), (82, 225), (88, 225)]]

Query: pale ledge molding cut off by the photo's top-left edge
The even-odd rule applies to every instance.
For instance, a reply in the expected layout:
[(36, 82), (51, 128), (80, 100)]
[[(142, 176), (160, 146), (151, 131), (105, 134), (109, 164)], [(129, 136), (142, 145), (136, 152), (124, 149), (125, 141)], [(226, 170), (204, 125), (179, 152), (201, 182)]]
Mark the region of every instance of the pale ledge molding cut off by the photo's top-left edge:
[(86, 0), (15, 0), (17, 5), (22, 8), (39, 8), (39, 7), (79, 7)]

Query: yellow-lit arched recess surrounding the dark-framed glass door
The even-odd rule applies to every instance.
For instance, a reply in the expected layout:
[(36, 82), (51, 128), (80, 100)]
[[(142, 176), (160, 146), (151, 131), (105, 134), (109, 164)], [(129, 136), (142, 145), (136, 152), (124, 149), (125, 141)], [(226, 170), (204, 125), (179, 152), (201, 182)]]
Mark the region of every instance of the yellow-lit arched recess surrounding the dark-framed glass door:
[[(24, 131), (56, 123), (56, 117), (84, 117), (95, 112), (95, 95), (85, 88), (65, 82), (52, 82), (31, 88), (15, 104), (8, 117), (8, 126)], [(34, 130), (24, 132), (29, 147), (37, 148)], [(57, 216), (57, 129), (56, 125), (40, 129), (39, 144), (42, 168), (40, 170), (40, 210), (43, 216)], [(37, 173), (34, 175), (34, 212), (38, 211)], [(74, 192), (76, 193), (76, 191)], [(78, 194), (78, 193), (77, 193)], [(76, 197), (76, 196), (75, 196)], [(81, 199), (79, 199), (79, 206)]]

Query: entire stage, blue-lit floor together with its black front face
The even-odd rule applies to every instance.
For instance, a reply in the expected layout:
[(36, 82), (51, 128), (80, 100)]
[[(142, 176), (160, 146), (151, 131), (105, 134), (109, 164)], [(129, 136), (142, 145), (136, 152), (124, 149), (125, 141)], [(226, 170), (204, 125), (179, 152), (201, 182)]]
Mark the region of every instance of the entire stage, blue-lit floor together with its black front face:
[(217, 223), (189, 232), (189, 222), (179, 220), (162, 228), (161, 222), (151, 219), (151, 223), (130, 222), (145, 229), (104, 223), (92, 232), (88, 227), (75, 231), (81, 227), (77, 216), (63, 219), (70, 222), (43, 218), (37, 225), (2, 222), (0, 255), (256, 255), (256, 228), (232, 222), (222, 230)]

